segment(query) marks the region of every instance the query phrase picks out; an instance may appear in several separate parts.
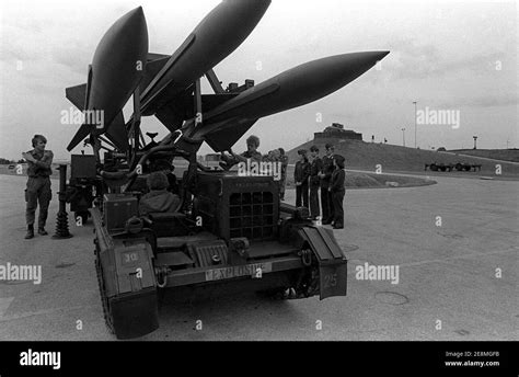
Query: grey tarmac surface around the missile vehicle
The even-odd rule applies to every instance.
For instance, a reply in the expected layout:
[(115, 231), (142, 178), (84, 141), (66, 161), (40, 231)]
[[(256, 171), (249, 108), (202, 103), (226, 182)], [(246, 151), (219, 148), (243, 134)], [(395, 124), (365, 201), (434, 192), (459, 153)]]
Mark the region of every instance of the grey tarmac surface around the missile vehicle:
[[(519, 339), (519, 182), (435, 176), (438, 184), (347, 191), (335, 236), (348, 295), (320, 301), (254, 294), (176, 304), (138, 340)], [(0, 265), (41, 265), (42, 282), (0, 281), (0, 340), (115, 340), (104, 324), (90, 224), (73, 238), (24, 240), (25, 178), (0, 175)], [(53, 202), (47, 230), (54, 233)], [(289, 203), (295, 192), (287, 192)], [(397, 284), (358, 279), (357, 266), (399, 267)], [(394, 281), (395, 282), (395, 281)]]

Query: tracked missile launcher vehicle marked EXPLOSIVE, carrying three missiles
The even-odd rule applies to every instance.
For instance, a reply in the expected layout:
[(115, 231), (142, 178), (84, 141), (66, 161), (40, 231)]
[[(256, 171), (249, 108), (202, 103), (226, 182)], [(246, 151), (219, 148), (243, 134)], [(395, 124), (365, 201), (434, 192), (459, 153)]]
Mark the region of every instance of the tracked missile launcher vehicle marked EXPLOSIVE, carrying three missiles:
[[(73, 155), (67, 192), (74, 195), (67, 198), (78, 216), (88, 210), (92, 218), (104, 316), (118, 339), (158, 329), (165, 289), (346, 295), (347, 260), (333, 230), (313, 222), (308, 208), (280, 202), (275, 176), (211, 169), (197, 159), (203, 142), (230, 150), (258, 118), (328, 95), (389, 54), (337, 55), (224, 90), (212, 67), (247, 37), (269, 3), (223, 0), (171, 56), (148, 53), (143, 11), (132, 10), (102, 38), (88, 82), (66, 91), (79, 110), (104, 114), (86, 119), (68, 146), (85, 139), (93, 155)], [(214, 94), (201, 93), (203, 76)], [(125, 121), (130, 96), (134, 113)], [(147, 142), (145, 116), (157, 116), (168, 136), (154, 141), (157, 134), (148, 133)], [(182, 176), (174, 171), (180, 161)], [(139, 203), (157, 171), (168, 174), (178, 205), (143, 215)]]

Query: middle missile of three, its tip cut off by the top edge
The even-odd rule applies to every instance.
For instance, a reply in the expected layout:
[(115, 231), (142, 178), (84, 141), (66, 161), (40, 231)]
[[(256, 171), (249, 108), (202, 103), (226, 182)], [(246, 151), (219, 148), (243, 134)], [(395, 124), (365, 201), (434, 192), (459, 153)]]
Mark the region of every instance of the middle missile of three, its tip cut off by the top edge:
[(223, 0), (218, 4), (169, 59), (161, 59), (162, 68), (148, 80), (140, 96), (142, 115), (153, 115), (237, 49), (269, 4), (270, 0)]

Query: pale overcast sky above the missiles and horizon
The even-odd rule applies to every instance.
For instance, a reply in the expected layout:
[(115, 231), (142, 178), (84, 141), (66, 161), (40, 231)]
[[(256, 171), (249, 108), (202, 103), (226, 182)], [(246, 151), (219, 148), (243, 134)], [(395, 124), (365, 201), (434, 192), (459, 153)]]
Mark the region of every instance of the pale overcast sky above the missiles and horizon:
[[(65, 88), (85, 82), (99, 41), (120, 15), (142, 5), (150, 53), (172, 54), (218, 3), (2, 0), (0, 157), (21, 158), (38, 133), (47, 136), (56, 159), (68, 159), (66, 146), (77, 127), (60, 123), (61, 112), (71, 106)], [(365, 141), (374, 135), (377, 141), (385, 137), (395, 145), (402, 145), (405, 127), (406, 145), (413, 146), (413, 101), (418, 111), (460, 114), (459, 128), (418, 125), (422, 148), (471, 148), (474, 135), (478, 148), (506, 148), (507, 140), (517, 148), (517, 24), (516, 1), (273, 0), (251, 36), (215, 70), (224, 85), (245, 79), (260, 83), (325, 56), (391, 50), (380, 70), (312, 104), (257, 122), (247, 135), (261, 137), (262, 152), (291, 149), (333, 122), (362, 133)], [(146, 130), (166, 134), (153, 117), (142, 123)], [(243, 139), (234, 149), (244, 149)]]

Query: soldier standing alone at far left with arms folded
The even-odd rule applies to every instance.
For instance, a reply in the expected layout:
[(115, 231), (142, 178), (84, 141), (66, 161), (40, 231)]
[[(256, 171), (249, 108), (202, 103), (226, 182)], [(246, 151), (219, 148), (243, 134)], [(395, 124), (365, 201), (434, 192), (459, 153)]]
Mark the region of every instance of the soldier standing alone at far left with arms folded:
[(27, 161), (27, 187), (25, 188), (25, 219), (27, 222), (27, 233), (25, 239), (34, 238), (34, 219), (36, 208), (39, 203), (38, 235), (47, 236), (45, 222), (48, 216), (48, 206), (53, 198), (50, 191), (50, 167), (53, 164), (54, 153), (51, 150), (45, 150), (47, 139), (43, 135), (34, 135), (32, 139), (34, 149), (23, 152), (23, 158)]

